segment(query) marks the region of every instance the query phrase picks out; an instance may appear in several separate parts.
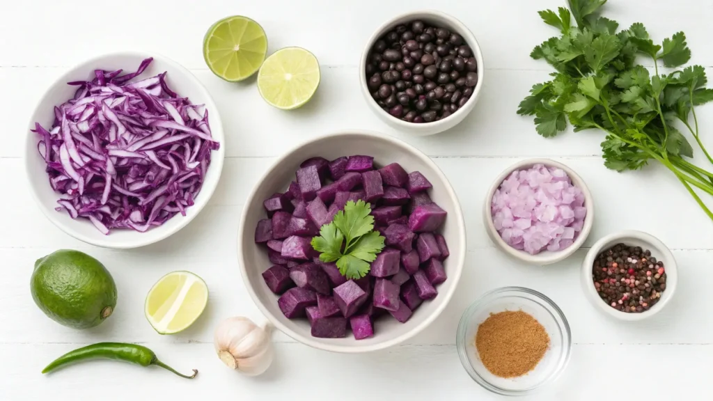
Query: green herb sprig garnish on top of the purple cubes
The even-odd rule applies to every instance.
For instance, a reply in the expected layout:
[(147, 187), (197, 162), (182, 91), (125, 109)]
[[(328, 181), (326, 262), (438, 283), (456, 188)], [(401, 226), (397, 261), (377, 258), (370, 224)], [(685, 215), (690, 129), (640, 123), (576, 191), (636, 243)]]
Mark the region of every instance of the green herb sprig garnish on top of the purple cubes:
[(322, 225), (319, 237), (312, 238), (312, 248), (320, 252), (319, 260), (336, 260), (339, 273), (349, 279), (369, 273), (371, 262), (384, 249), (385, 238), (374, 231), (374, 216), (369, 213), (369, 203), (349, 200), (344, 211), (334, 215), (332, 223)]

